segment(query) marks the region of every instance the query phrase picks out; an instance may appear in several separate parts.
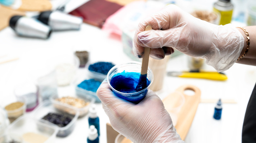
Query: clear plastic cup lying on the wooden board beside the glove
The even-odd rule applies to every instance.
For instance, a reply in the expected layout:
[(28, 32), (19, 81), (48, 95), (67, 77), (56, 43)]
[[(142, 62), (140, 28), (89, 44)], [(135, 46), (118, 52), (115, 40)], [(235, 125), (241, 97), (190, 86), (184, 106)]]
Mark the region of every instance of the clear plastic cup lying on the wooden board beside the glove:
[(173, 126), (176, 126), (178, 122), (179, 113), (181, 111), (181, 107), (185, 103), (185, 97), (181, 92), (175, 91), (171, 93), (168, 96), (168, 98), (170, 100), (164, 100), (163, 104), (165, 109), (172, 118)]

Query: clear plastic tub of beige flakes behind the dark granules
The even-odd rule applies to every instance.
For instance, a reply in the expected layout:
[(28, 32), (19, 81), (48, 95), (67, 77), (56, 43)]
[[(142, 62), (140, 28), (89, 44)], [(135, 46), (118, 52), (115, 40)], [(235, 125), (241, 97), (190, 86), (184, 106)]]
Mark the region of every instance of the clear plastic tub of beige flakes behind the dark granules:
[[(68, 114), (75, 115), (76, 111), (78, 111), (78, 117), (80, 118), (89, 112), (89, 108), (95, 102), (95, 99), (89, 96), (66, 96), (61, 98), (52, 98), (51, 101), (53, 104), (56, 103), (54, 104), (55, 108)], [(59, 104), (65, 104), (65, 106), (58, 106)], [(66, 108), (66, 106), (69, 108)], [(70, 108), (72, 108), (72, 110), (70, 110)]]

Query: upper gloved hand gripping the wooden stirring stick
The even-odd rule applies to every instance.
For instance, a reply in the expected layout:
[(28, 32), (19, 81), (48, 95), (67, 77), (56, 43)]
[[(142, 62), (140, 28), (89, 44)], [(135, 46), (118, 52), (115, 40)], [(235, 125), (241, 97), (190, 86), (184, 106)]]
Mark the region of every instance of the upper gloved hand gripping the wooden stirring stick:
[[(153, 30), (145, 31), (151, 25)], [(175, 5), (140, 22), (133, 40), (133, 52), (143, 57), (144, 47), (150, 56), (164, 58), (173, 48), (193, 57), (205, 58), (217, 71), (229, 69), (244, 47), (243, 35), (231, 24), (215, 25), (193, 17)]]

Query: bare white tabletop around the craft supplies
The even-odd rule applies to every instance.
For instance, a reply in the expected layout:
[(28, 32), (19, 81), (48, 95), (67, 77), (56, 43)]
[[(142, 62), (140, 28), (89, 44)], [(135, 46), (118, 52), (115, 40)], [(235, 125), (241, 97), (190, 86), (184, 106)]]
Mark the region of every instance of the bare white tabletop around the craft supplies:
[[(51, 61), (72, 56), (75, 50), (90, 50), (91, 61), (112, 61), (120, 64), (131, 59), (123, 53), (120, 40), (109, 37), (101, 29), (82, 24), (79, 31), (53, 32), (48, 40), (23, 38), (15, 35), (10, 27), (0, 31), (0, 53), (16, 55), (18, 60), (0, 64), (0, 101), (9, 103), (15, 100), (13, 89), (18, 83), (35, 81), (39, 72), (53, 68)], [(205, 66), (206, 69), (212, 69)], [(187, 56), (171, 58), (167, 71), (187, 70)], [(161, 99), (184, 84), (192, 84), (202, 91), (202, 99), (233, 99), (237, 103), (224, 103), (222, 119), (213, 119), (216, 103), (200, 103), (187, 134), (187, 143), (238, 143), (241, 142), (242, 125), (246, 106), (256, 81), (256, 67), (234, 64), (224, 72), (227, 81), (167, 77), (158, 95)], [(77, 74), (85, 74), (79, 69)], [(59, 87), (60, 96), (75, 94), (73, 85)], [(100, 142), (106, 143), (106, 123), (109, 119), (96, 104), (100, 118)], [(30, 114), (30, 113), (29, 113)], [(56, 143), (86, 142), (88, 135), (88, 115), (76, 122), (73, 133), (65, 138), (56, 138)]]

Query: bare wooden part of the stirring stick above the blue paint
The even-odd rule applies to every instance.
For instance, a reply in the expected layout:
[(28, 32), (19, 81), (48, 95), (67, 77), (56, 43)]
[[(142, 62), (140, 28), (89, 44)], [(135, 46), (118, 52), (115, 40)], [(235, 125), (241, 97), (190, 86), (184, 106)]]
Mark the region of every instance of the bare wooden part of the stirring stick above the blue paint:
[[(145, 31), (147, 30), (152, 30), (152, 27), (150, 25), (147, 25), (145, 28)], [(145, 47), (144, 56), (142, 58), (142, 63), (141, 63), (141, 72), (140, 72), (140, 74), (142, 75), (147, 74), (147, 71), (148, 71), (149, 53), (150, 53), (150, 48)]]

